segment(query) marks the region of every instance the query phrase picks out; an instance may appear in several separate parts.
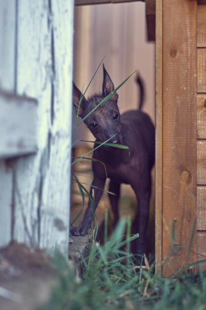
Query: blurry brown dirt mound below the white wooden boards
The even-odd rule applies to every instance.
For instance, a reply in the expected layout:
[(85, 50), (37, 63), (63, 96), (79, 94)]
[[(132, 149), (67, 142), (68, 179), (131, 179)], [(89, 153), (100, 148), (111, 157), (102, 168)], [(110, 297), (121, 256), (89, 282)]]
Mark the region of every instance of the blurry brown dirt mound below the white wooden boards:
[(50, 267), (44, 251), (33, 251), (15, 241), (1, 248), (1, 310), (38, 309), (48, 300), (57, 281), (57, 273)]

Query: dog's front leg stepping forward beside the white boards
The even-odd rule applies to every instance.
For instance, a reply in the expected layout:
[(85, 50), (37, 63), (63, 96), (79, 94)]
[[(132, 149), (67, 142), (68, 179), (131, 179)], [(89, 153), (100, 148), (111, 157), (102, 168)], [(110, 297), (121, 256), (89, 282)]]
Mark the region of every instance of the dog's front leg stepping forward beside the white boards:
[(79, 226), (72, 227), (70, 233), (73, 236), (85, 236), (88, 229), (91, 226), (91, 222), (94, 216), (94, 210), (96, 209), (99, 200), (102, 196), (106, 179), (99, 179), (94, 177), (90, 189), (90, 199), (86, 211), (83, 216), (83, 220)]

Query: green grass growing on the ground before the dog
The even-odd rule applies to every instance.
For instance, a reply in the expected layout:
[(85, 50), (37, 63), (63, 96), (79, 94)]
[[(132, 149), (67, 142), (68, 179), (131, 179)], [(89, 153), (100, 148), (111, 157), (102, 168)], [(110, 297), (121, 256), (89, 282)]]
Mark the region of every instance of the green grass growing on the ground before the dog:
[(206, 273), (179, 270), (178, 276), (162, 278), (147, 260), (137, 264), (126, 249), (138, 235), (129, 236), (127, 224), (122, 219), (103, 246), (95, 241), (94, 231), (90, 254), (80, 261), (81, 277), (76, 266), (56, 255), (59, 284), (41, 310), (205, 310)]

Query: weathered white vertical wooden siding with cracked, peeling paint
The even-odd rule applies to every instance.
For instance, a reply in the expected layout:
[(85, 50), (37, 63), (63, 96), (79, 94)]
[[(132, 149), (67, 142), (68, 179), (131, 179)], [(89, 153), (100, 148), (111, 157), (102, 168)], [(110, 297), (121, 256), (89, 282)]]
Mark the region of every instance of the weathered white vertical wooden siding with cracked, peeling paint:
[[(4, 6), (11, 15), (10, 2), (15, 1)], [(58, 247), (67, 253), (73, 5), (73, 0), (17, 0), (13, 7), (17, 25), (13, 91), (38, 101), (39, 151), (0, 162), (4, 187), (0, 187), (0, 227), (3, 212), (9, 210), (5, 228), (0, 228), (0, 245), (14, 238), (49, 252)]]

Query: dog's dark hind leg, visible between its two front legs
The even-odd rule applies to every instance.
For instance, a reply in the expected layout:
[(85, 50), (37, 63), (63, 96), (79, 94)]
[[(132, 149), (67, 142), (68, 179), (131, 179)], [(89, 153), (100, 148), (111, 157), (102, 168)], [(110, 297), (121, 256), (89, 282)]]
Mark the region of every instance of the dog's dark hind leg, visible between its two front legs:
[(118, 202), (120, 198), (120, 186), (121, 186), (120, 183), (110, 181), (109, 192), (115, 194), (115, 195), (109, 194), (110, 204), (112, 207), (112, 211), (114, 213), (114, 227), (117, 225), (119, 221)]

